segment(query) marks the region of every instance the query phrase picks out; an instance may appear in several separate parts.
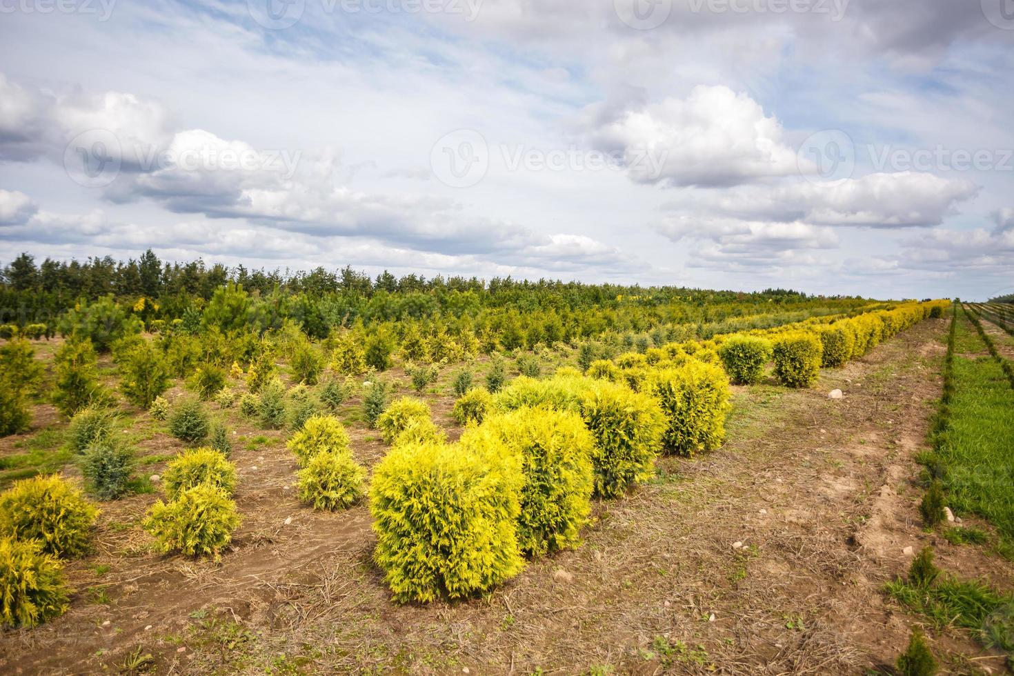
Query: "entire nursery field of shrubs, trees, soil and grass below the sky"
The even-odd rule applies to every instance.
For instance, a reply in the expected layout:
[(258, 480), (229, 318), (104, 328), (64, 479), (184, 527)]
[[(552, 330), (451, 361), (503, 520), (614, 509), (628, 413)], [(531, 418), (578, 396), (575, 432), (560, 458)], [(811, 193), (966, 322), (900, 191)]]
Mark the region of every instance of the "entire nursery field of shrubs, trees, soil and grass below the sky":
[(1007, 668), (1006, 306), (143, 270), (2, 290), (0, 672)]

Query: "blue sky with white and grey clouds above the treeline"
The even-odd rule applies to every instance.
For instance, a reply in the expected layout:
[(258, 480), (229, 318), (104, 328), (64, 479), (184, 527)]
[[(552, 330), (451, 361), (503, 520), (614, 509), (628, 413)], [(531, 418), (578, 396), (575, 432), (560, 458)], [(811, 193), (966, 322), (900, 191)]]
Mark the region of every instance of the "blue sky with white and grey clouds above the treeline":
[(0, 260), (1014, 293), (1012, 0), (0, 0)]

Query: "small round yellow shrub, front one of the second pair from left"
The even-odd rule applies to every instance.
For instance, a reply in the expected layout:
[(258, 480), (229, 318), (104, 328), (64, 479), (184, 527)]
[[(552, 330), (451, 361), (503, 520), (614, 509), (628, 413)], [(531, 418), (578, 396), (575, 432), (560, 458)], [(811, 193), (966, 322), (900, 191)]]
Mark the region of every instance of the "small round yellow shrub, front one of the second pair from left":
[(169, 503), (156, 502), (142, 526), (155, 537), (159, 551), (214, 555), (217, 560), (239, 522), (236, 504), (225, 491), (200, 483)]

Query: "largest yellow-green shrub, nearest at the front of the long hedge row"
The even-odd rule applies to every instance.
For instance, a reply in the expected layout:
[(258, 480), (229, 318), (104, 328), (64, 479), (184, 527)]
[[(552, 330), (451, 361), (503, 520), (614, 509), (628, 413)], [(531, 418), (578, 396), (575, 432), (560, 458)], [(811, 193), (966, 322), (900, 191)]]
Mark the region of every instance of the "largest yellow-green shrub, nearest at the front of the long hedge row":
[(400, 602), (460, 598), (517, 575), (521, 472), (444, 444), (395, 446), (377, 464), (374, 559)]

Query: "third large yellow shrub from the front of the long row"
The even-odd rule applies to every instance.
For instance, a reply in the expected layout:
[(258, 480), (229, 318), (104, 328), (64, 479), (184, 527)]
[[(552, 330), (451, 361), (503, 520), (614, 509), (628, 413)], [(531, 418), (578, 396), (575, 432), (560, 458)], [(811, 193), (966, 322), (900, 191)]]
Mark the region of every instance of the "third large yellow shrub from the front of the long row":
[(605, 380), (585, 383), (580, 412), (595, 438), (595, 493), (612, 498), (651, 478), (665, 432), (658, 401)]

